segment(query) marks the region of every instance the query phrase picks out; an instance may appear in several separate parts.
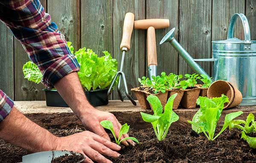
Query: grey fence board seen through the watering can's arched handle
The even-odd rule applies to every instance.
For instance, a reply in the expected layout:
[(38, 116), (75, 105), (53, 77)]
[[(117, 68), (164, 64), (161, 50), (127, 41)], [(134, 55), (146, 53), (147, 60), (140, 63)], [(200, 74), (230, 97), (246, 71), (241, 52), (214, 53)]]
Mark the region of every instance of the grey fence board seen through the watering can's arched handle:
[[(212, 1), (212, 40), (227, 39), (230, 19), (235, 13), (245, 11), (245, 0), (213, 0)], [(236, 20), (234, 37), (244, 39), (241, 20)]]

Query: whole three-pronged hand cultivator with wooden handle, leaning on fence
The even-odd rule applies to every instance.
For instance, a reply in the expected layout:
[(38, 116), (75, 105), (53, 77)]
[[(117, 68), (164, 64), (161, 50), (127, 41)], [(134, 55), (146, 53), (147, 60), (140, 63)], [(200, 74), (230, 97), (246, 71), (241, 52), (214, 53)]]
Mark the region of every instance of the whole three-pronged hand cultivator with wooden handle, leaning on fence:
[(125, 14), (125, 20), (124, 20), (124, 25), (123, 25), (123, 35), (122, 35), (122, 42), (120, 45), (120, 49), (122, 50), (122, 61), (121, 61), (121, 66), (120, 66), (120, 70), (116, 73), (109, 89), (108, 89), (108, 95), (109, 96), (111, 89), (117, 79), (117, 77), (119, 76), (119, 80), (118, 80), (118, 84), (117, 84), (117, 92), (119, 95), (119, 98), (121, 101), (124, 101), (124, 99), (122, 98), (122, 93), (120, 91), (121, 89), (121, 82), (123, 80), (124, 82), (124, 86), (125, 86), (125, 94), (126, 96), (131, 100), (132, 104), (136, 105), (136, 102), (134, 101), (134, 99), (131, 98), (131, 96), (129, 95), (128, 92), (128, 87), (127, 87), (127, 83), (126, 83), (126, 79), (125, 79), (125, 73), (122, 71), (123, 70), (123, 65), (125, 62), (125, 53), (130, 49), (130, 40), (131, 40), (131, 33), (134, 27), (134, 14), (131, 12), (128, 12)]

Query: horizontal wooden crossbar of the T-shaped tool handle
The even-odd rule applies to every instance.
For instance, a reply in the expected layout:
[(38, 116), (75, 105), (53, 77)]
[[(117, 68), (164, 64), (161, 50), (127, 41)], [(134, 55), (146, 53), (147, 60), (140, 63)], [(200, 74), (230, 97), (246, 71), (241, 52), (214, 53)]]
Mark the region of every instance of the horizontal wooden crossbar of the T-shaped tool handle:
[(134, 29), (148, 29), (149, 27), (160, 29), (167, 28), (169, 26), (169, 19), (144, 19), (134, 21)]

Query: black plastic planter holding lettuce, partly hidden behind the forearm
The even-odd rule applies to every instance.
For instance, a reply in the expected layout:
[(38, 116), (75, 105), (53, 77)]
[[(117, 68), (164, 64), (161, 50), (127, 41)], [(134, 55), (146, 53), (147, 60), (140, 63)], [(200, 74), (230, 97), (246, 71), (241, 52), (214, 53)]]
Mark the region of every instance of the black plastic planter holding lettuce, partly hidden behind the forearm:
[[(45, 98), (46, 98), (46, 105), (48, 107), (69, 107), (57, 90), (44, 89), (44, 92), (45, 92)], [(84, 93), (87, 97), (87, 100), (90, 102), (90, 104), (93, 107), (98, 107), (98, 106), (108, 104), (108, 98), (107, 98), (108, 88), (101, 89), (101, 90), (84, 91)]]

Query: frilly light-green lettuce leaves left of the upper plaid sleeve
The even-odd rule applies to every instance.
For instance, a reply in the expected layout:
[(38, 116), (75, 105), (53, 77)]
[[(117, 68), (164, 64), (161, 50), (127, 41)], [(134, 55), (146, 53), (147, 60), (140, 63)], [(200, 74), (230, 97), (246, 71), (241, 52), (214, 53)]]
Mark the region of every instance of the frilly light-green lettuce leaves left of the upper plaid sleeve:
[(43, 75), (37, 65), (33, 62), (26, 62), (22, 67), (22, 71), (25, 79), (35, 82), (36, 84), (40, 83)]

